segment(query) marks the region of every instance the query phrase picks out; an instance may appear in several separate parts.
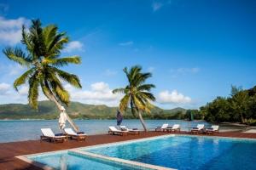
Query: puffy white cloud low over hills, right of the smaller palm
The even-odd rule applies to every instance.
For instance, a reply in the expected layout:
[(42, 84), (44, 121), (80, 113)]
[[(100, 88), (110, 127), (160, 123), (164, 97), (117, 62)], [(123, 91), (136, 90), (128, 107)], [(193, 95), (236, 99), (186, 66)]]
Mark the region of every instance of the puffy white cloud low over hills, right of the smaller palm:
[(158, 100), (161, 104), (189, 104), (192, 99), (173, 90), (171, 93), (168, 90), (160, 92)]

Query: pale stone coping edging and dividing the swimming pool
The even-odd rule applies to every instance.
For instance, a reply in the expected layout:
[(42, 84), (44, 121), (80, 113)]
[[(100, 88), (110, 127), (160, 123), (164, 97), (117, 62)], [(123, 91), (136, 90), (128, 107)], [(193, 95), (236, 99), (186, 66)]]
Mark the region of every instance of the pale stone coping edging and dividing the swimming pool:
[(147, 164), (139, 161), (130, 161), (130, 160), (125, 160), (125, 159), (120, 159), (116, 157), (111, 157), (111, 156), (102, 156), (99, 154), (94, 154), (90, 153), (84, 150), (91, 149), (91, 148), (101, 148), (104, 146), (111, 146), (111, 145), (116, 145), (116, 144), (130, 144), (134, 142), (143, 142), (143, 141), (148, 141), (148, 140), (154, 140), (154, 139), (163, 139), (163, 138), (168, 138), (168, 137), (175, 137), (175, 136), (188, 136), (188, 137), (195, 137), (195, 138), (201, 138), (201, 139), (232, 139), (232, 140), (249, 140), (249, 141), (254, 141), (256, 142), (256, 139), (250, 139), (250, 138), (237, 138), (237, 137), (223, 137), (223, 136), (199, 136), (199, 135), (191, 135), (191, 134), (165, 134), (161, 136), (154, 136), (154, 137), (148, 137), (148, 138), (143, 138), (143, 139), (131, 139), (131, 140), (126, 140), (126, 141), (119, 141), (119, 142), (112, 142), (108, 144), (96, 144), (96, 145), (91, 145), (91, 146), (84, 146), (84, 147), (78, 147), (78, 148), (73, 148), (73, 149), (67, 149), (67, 150), (55, 150), (55, 151), (48, 151), (48, 152), (40, 152), (36, 154), (29, 154), (29, 155), (23, 155), (23, 156), (15, 156), (16, 158), (26, 161), (27, 163), (30, 163), (36, 167), (40, 167), (44, 170), (54, 170), (54, 167), (49, 167), (48, 165), (45, 165), (44, 163), (40, 163), (38, 161), (32, 161), (32, 159), (29, 159), (29, 156), (40, 156), (40, 155), (52, 155), (56, 153), (61, 153), (61, 152), (71, 152), (75, 154), (79, 154), (81, 156), (89, 156), (89, 157), (94, 157), (95, 159), (101, 159), (103, 161), (114, 161), (116, 163), (121, 163), (125, 164), (128, 167), (143, 167), (143, 168), (148, 168), (148, 169), (154, 169), (154, 170), (175, 170), (175, 168), (171, 167), (160, 167), (152, 164)]

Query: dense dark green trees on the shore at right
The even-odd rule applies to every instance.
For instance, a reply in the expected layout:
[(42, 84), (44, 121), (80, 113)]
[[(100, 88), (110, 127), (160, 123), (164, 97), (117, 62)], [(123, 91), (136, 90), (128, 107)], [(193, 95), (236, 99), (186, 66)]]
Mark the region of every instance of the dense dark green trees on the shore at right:
[(242, 90), (231, 87), (229, 97), (218, 97), (201, 107), (208, 122), (241, 122), (250, 124), (256, 119), (256, 87)]

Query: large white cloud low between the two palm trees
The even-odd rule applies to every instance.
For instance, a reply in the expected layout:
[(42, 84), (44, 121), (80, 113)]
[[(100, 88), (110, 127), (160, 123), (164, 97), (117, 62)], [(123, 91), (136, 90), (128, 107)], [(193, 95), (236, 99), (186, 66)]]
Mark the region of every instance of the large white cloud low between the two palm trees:
[(65, 85), (70, 92), (71, 99), (91, 105), (109, 105), (116, 106), (121, 99), (121, 94), (113, 94), (113, 89), (109, 88), (106, 82), (96, 82), (90, 85), (89, 90), (80, 90), (71, 85)]

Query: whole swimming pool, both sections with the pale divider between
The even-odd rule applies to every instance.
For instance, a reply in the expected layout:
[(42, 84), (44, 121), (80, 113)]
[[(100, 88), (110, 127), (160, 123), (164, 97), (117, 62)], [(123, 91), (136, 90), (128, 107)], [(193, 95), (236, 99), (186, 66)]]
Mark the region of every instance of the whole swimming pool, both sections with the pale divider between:
[(55, 169), (74, 170), (256, 169), (256, 140), (166, 135), (26, 158)]

